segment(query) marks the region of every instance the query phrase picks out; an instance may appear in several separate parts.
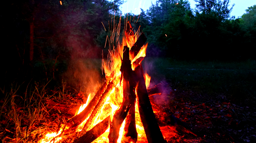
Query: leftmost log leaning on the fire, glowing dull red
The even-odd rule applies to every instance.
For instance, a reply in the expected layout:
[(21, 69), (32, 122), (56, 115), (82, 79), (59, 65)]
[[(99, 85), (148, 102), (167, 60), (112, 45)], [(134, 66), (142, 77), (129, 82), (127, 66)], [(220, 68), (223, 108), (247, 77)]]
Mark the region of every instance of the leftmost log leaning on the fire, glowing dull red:
[[(112, 88), (112, 87), (108, 87), (108, 88)], [(94, 95), (92, 100), (89, 102), (89, 104), (85, 107), (85, 109), (80, 114), (68, 120), (67, 125), (69, 125), (69, 127), (76, 127), (80, 125), (92, 112), (92, 110), (97, 105), (97, 103), (99, 102), (101, 96), (103, 95), (106, 89), (107, 89), (107, 82), (105, 82), (101, 86), (101, 88), (97, 91), (97, 93)]]

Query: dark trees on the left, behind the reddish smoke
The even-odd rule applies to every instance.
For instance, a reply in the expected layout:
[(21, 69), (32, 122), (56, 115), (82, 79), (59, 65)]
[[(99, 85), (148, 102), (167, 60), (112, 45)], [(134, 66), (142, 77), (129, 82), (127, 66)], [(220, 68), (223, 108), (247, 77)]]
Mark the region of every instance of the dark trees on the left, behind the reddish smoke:
[(122, 2), (62, 0), (61, 5), (58, 0), (3, 1), (0, 31), (5, 35), (3, 42), (8, 43), (0, 52), (5, 59), (1, 60), (3, 73), (51, 79), (61, 61), (100, 57), (102, 50), (96, 39), (104, 30), (102, 23), (108, 27), (110, 15), (120, 12), (118, 4)]

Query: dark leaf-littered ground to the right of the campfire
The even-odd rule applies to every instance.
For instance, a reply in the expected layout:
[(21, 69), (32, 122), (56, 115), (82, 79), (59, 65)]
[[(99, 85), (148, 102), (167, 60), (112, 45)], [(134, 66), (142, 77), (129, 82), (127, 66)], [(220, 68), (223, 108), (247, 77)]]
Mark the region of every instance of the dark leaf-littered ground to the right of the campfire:
[[(160, 95), (161, 96), (161, 95)], [(155, 97), (155, 98), (160, 98)], [(180, 134), (179, 143), (256, 143), (256, 109), (227, 95), (200, 95), (172, 89), (166, 112), (197, 135)]]

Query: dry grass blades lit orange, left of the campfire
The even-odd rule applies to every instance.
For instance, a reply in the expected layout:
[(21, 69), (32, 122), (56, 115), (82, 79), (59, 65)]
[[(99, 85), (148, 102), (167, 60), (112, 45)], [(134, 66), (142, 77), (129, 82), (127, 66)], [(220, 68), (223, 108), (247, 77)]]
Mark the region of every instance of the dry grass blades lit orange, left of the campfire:
[[(45, 85), (30, 84), (27, 88), (13, 86), (9, 91), (1, 89), (0, 102), (0, 139), (2, 143), (35, 143), (49, 131), (57, 131), (56, 125), (49, 109), (49, 99), (57, 102), (70, 102), (70, 94), (63, 87), (56, 91), (49, 91)], [(21, 94), (22, 93), (22, 94)]]

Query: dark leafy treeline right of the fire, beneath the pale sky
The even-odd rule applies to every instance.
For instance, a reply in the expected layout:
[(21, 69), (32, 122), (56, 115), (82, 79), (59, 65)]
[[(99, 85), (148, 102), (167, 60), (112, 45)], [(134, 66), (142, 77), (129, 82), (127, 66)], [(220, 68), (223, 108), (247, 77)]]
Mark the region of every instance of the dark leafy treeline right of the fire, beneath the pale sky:
[[(230, 17), (230, 0), (157, 0), (147, 11), (147, 55), (176, 59), (255, 59), (255, 6), (242, 18)], [(250, 18), (249, 18), (250, 17)], [(249, 28), (250, 27), (250, 28)], [(243, 48), (242, 48), (243, 47)]]

